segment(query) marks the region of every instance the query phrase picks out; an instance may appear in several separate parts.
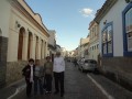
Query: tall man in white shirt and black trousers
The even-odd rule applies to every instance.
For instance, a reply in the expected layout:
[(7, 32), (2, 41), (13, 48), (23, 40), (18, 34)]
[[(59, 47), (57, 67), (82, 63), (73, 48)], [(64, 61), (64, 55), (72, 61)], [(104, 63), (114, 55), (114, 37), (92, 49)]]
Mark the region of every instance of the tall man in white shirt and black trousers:
[(61, 57), (61, 53), (56, 53), (56, 57), (54, 58), (54, 79), (55, 79), (55, 92), (58, 94), (61, 89), (61, 97), (64, 96), (64, 72), (65, 72), (65, 61)]

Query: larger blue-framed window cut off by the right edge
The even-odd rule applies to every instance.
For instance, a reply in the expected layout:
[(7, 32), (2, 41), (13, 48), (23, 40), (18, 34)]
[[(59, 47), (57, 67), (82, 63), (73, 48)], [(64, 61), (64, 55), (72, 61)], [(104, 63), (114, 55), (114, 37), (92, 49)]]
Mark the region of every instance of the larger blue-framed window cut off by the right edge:
[(123, 55), (132, 56), (132, 3), (130, 2), (122, 12), (123, 22)]

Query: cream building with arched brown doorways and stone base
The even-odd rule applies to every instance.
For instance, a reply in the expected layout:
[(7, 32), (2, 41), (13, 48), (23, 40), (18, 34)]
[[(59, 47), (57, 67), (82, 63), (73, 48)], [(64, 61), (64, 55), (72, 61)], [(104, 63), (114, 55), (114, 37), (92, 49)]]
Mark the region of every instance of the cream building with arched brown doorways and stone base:
[(44, 61), (50, 35), (24, 0), (0, 0), (0, 13), (1, 86), (20, 79), (29, 58)]

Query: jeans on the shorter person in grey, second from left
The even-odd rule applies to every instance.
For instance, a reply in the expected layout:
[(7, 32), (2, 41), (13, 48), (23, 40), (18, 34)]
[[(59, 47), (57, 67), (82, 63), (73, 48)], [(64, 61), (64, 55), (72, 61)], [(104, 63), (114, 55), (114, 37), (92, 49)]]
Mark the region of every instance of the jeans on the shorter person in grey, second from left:
[(34, 77), (34, 94), (37, 94), (37, 89), (40, 88), (40, 92), (43, 95), (43, 84), (42, 78)]

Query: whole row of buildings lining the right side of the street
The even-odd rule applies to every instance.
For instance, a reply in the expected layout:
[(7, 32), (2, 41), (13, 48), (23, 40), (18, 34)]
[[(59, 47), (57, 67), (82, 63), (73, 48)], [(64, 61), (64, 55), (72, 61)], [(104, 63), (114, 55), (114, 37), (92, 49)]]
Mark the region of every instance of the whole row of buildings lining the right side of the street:
[(102, 74), (132, 90), (132, 0), (106, 0), (75, 50), (92, 58)]

